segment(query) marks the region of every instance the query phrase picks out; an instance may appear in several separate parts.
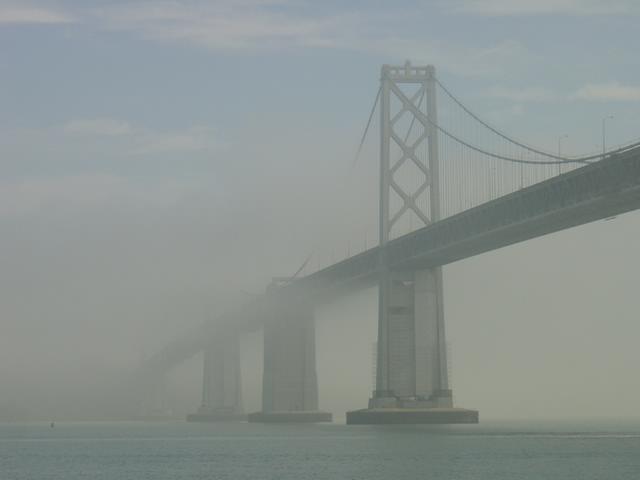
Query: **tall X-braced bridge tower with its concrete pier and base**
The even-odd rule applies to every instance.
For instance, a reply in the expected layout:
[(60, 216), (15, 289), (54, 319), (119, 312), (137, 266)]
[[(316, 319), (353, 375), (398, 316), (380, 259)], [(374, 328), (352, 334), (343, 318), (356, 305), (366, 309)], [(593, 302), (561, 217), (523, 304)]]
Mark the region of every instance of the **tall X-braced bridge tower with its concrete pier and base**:
[(441, 267), (394, 271), (384, 248), (402, 226), (440, 219), (435, 69), (384, 65), (380, 88), (376, 388), (347, 423), (477, 422), (476, 411), (453, 408)]

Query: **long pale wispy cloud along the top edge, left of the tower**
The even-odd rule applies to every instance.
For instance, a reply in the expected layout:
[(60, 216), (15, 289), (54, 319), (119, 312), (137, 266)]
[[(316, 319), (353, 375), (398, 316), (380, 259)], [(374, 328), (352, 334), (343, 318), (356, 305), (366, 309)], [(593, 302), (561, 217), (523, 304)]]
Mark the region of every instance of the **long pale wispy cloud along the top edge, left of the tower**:
[(108, 28), (214, 50), (330, 46), (356, 15), (313, 16), (284, 1), (137, 2), (96, 13)]

